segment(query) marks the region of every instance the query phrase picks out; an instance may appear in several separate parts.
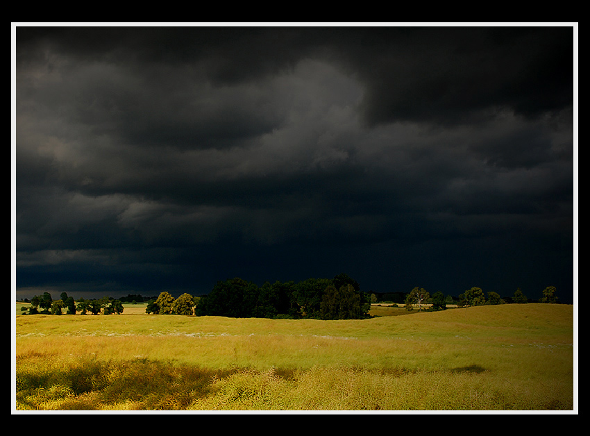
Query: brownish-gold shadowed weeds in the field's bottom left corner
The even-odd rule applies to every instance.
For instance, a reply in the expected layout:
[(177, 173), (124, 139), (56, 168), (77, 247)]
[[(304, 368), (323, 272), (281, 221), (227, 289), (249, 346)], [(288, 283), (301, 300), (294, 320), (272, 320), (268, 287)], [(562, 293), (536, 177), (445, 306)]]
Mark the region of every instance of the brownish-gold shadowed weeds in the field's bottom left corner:
[[(235, 370), (160, 362), (19, 359), (19, 410), (185, 410), (210, 392), (214, 378)], [(43, 368), (43, 371), (39, 371)]]

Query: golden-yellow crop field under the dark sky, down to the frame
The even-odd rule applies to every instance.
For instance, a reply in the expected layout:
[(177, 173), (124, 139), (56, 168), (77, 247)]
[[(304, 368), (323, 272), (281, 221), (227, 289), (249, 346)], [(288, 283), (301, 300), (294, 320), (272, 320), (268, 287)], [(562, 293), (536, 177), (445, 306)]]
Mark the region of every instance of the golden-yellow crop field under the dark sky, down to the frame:
[[(17, 306), (19, 306), (17, 304)], [(17, 410), (577, 408), (573, 305), (364, 320), (15, 317)]]

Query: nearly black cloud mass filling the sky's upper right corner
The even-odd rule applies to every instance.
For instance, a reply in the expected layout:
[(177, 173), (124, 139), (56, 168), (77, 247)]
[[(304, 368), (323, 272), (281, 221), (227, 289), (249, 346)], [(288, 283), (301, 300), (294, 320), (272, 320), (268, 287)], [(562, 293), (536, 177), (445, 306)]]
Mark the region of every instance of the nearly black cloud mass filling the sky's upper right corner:
[(381, 29), (375, 35), (376, 44), (353, 60), (368, 84), (370, 124), (471, 123), (495, 107), (537, 117), (571, 105), (571, 28)]

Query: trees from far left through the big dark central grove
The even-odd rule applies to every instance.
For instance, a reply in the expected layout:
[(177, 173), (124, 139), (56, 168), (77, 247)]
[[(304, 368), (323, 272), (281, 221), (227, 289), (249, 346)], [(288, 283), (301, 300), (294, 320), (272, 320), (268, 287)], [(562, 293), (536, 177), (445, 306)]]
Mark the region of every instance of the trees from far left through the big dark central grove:
[[(123, 313), (121, 301), (145, 302), (141, 295), (128, 295), (121, 299), (79, 299), (74, 301), (65, 292), (60, 300), (53, 301), (49, 292), (34, 296), (28, 310), (37, 313), (62, 315), (112, 315)], [(205, 296), (188, 293), (177, 299), (169, 292), (160, 292), (155, 299), (149, 299), (146, 313), (156, 315), (196, 315), (221, 317), (258, 317), (287, 319), (364, 319), (369, 317), (371, 303), (369, 296), (360, 291), (356, 280), (346, 274), (334, 278), (309, 278), (299, 283), (294, 281), (265, 282), (262, 286), (232, 278), (218, 281)]]

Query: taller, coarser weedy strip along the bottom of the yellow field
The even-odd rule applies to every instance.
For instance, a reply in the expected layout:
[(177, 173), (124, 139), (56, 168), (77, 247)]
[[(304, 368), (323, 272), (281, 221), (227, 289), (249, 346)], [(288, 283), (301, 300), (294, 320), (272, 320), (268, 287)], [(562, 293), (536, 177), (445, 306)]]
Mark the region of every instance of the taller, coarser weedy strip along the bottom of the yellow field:
[[(37, 358), (33, 358), (36, 360)], [(46, 358), (47, 359), (47, 358)], [(567, 386), (478, 367), (203, 369), (144, 360), (21, 359), (18, 410), (571, 410)]]

